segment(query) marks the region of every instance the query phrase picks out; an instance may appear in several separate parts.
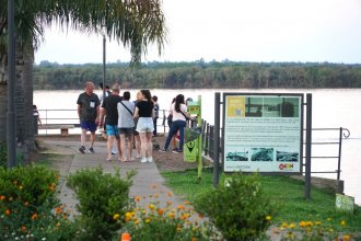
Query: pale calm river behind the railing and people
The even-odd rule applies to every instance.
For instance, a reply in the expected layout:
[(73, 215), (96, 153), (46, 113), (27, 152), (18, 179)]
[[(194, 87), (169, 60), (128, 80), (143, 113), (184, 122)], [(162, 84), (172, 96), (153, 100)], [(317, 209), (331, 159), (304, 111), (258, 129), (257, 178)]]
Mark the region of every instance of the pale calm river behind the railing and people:
[[(135, 99), (138, 90), (130, 90)], [(81, 90), (69, 91), (35, 91), (34, 103), (38, 110), (75, 110), (77, 99)], [(101, 91), (96, 91), (100, 93)], [(158, 95), (160, 108), (168, 108), (172, 99), (178, 93), (186, 97), (202, 100), (202, 118), (213, 123), (214, 92), (256, 92), (256, 93), (312, 93), (313, 94), (313, 127), (314, 128), (348, 128), (351, 133), (342, 141), (341, 180), (345, 180), (345, 193), (356, 197), (361, 204), (361, 90), (360, 89), (322, 89), (322, 90), (151, 90)], [(77, 117), (75, 112), (58, 112), (47, 114), (40, 111), (43, 122), (47, 117)], [(70, 120), (74, 123), (75, 120)], [(49, 120), (50, 123), (50, 120)], [(62, 122), (63, 123), (63, 122)], [(77, 131), (77, 130), (73, 130)], [(79, 131), (79, 130), (78, 130)], [(337, 141), (338, 133), (315, 133), (313, 141)], [(313, 156), (337, 156), (337, 146), (313, 147)], [(313, 161), (314, 171), (334, 171), (337, 160), (327, 159)], [(315, 174), (317, 176), (336, 179), (336, 174)]]

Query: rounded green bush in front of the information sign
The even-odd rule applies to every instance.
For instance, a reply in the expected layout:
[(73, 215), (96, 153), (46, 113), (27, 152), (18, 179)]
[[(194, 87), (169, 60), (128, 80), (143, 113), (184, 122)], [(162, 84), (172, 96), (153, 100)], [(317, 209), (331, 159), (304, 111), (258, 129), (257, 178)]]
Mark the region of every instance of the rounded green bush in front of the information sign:
[(258, 239), (270, 226), (273, 215), (258, 174), (232, 175), (224, 185), (200, 194), (195, 207), (208, 216), (229, 241)]

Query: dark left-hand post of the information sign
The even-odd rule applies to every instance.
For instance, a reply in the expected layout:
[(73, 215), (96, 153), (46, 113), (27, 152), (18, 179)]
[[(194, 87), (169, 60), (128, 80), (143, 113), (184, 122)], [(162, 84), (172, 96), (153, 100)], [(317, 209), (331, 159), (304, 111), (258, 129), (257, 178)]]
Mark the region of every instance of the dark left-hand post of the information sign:
[(220, 162), (220, 102), (221, 94), (214, 93), (214, 127), (213, 127), (213, 186), (219, 184), (219, 162)]

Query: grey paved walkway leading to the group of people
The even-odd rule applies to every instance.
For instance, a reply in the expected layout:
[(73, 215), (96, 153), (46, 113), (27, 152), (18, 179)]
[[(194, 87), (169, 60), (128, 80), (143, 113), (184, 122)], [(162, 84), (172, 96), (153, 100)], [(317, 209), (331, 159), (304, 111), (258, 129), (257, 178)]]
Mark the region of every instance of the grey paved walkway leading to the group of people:
[[(135, 170), (137, 174), (132, 177), (132, 186), (130, 187), (129, 196), (136, 197), (149, 197), (149, 195), (160, 194), (156, 200), (160, 202), (160, 206), (166, 206), (166, 202), (172, 202), (174, 206), (183, 203), (182, 198), (173, 195), (172, 191), (164, 185), (164, 179), (161, 176), (156, 164), (141, 163), (140, 160), (131, 162), (119, 162), (116, 161), (117, 157), (114, 156), (113, 161), (106, 161), (106, 144), (96, 142), (94, 147), (95, 153), (82, 154), (79, 152), (79, 141), (44, 141), (46, 146), (50, 148), (49, 152), (61, 153), (61, 154), (73, 154), (73, 159), (68, 170), (65, 170), (60, 179), (60, 200), (66, 204), (67, 209), (72, 214), (77, 214), (77, 197), (72, 190), (66, 185), (66, 176), (70, 173), (74, 173), (78, 170), (91, 169), (101, 167), (104, 172), (115, 173), (116, 168), (120, 169), (120, 176), (125, 177), (126, 173)], [(167, 195), (166, 195), (167, 194)], [(172, 195), (171, 195), (172, 194)], [(140, 206), (149, 204), (148, 200), (142, 198)]]

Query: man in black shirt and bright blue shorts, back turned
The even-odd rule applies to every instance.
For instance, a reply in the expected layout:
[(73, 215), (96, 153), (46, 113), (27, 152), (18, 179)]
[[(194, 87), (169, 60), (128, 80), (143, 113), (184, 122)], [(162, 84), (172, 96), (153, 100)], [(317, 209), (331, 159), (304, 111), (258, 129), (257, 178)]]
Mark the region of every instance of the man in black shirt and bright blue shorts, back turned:
[(118, 130), (118, 103), (121, 101), (119, 96), (120, 87), (118, 83), (113, 85), (113, 92), (109, 96), (105, 97), (102, 103), (101, 108), (101, 126), (103, 126), (103, 117), (105, 116), (105, 126), (106, 126), (106, 134), (108, 136), (107, 139), (107, 161), (112, 161), (112, 147), (114, 144), (114, 139), (116, 138), (117, 148), (118, 148), (118, 160), (121, 161), (120, 154), (120, 138), (119, 138), (119, 130)]

